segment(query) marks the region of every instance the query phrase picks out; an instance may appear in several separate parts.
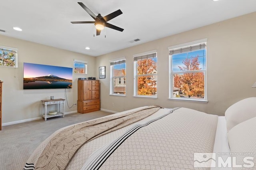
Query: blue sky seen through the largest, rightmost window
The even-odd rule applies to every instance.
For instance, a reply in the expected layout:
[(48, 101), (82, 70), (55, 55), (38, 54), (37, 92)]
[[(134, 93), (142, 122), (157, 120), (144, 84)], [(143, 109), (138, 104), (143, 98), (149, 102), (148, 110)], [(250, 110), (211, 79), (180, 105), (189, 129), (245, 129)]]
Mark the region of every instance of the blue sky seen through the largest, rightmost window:
[(206, 49), (201, 49), (197, 51), (192, 51), (188, 53), (180, 53), (172, 55), (172, 71), (177, 72), (181, 71), (178, 66), (184, 66), (182, 61), (186, 58), (194, 58), (198, 56), (198, 61), (200, 63), (199, 68), (205, 69), (206, 68)]

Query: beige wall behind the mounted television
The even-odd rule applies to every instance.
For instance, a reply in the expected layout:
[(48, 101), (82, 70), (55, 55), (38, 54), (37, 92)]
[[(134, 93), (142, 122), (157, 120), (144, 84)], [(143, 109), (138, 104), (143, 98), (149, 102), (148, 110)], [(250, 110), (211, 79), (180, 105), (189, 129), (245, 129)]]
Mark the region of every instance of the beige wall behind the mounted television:
[[(65, 89), (23, 90), (23, 63), (36, 63), (73, 67), (74, 59), (88, 61), (88, 75), (73, 73), (73, 88), (66, 89), (69, 107), (77, 101), (78, 77), (95, 77), (95, 57), (49, 47), (38, 43), (0, 36), (0, 45), (18, 48), (18, 68), (0, 67), (0, 80), (3, 83), (2, 123), (22, 121), (41, 116), (41, 100), (65, 99)], [(49, 105), (49, 109), (56, 109)], [(65, 113), (77, 111), (77, 107), (68, 108), (65, 101)]]

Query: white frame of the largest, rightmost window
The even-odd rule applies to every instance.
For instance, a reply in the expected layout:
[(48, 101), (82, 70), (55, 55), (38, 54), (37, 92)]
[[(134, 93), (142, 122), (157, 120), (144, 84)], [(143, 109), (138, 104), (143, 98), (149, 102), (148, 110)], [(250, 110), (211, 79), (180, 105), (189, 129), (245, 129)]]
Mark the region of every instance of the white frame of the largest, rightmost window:
[[(208, 102), (208, 100), (207, 100), (207, 74), (206, 74), (207, 73), (207, 50), (206, 50), (206, 55), (205, 55), (205, 69), (201, 69), (201, 70), (176, 71), (176, 72), (172, 71), (172, 55), (170, 54), (170, 51), (173, 49), (180, 49), (180, 48), (198, 45), (198, 44), (202, 44), (202, 43), (206, 44), (207, 38), (168, 47), (168, 50), (169, 50), (169, 98), (168, 99), (169, 100), (190, 101), (190, 102), (200, 102), (200, 103)], [(206, 47), (204, 49), (206, 49)], [(200, 49), (198, 49), (198, 50), (200, 50)], [(197, 50), (193, 50), (193, 51), (197, 51)], [(174, 74), (184, 74), (184, 73), (204, 73), (204, 98), (203, 99), (173, 97), (173, 87), (174, 87), (173, 75)]]

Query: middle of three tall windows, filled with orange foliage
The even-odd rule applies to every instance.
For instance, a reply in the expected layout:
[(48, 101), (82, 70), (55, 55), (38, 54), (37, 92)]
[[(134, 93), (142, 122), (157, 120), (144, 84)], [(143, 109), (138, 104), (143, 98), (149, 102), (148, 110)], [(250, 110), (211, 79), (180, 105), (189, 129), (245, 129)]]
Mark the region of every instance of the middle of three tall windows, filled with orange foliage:
[(156, 97), (156, 51), (134, 56), (134, 96)]

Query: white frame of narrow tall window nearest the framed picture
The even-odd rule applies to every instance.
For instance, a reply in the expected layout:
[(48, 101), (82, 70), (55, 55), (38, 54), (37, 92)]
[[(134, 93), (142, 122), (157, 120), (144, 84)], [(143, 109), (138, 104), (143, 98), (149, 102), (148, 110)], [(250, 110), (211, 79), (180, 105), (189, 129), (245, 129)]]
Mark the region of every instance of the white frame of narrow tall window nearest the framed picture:
[[(109, 93), (109, 95), (113, 95), (113, 96), (126, 96), (126, 84), (124, 84), (125, 85), (125, 92), (124, 92), (124, 94), (114, 93), (114, 84), (113, 84), (114, 79), (115, 78), (118, 79), (118, 82), (117, 82), (118, 85), (122, 85), (122, 77), (124, 77), (126, 79), (126, 75), (125, 76), (114, 76), (113, 75), (114, 65), (117, 65), (117, 64), (111, 65), (111, 63), (118, 62), (118, 61), (124, 61), (124, 63), (125, 63), (124, 70), (126, 72), (126, 58), (125, 57), (121, 57), (121, 58), (118, 58), (118, 59), (110, 60), (110, 93)], [(119, 78), (121, 78), (121, 83), (119, 83)]]

